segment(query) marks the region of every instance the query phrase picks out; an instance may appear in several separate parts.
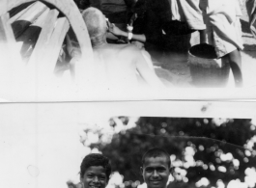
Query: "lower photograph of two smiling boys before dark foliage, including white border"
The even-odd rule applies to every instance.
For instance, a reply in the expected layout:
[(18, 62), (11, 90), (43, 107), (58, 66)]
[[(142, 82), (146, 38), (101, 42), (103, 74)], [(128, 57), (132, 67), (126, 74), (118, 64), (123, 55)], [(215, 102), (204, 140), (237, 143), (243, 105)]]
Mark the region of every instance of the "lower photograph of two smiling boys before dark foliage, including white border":
[(255, 188), (255, 109), (216, 102), (0, 105), (0, 186)]

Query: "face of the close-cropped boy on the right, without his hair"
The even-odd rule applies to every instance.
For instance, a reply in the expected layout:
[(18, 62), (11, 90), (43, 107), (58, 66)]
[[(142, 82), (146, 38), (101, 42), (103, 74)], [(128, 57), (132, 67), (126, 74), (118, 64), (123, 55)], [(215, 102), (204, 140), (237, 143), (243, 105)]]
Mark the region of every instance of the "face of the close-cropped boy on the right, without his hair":
[(165, 188), (170, 175), (166, 157), (146, 157), (141, 173), (148, 188)]

